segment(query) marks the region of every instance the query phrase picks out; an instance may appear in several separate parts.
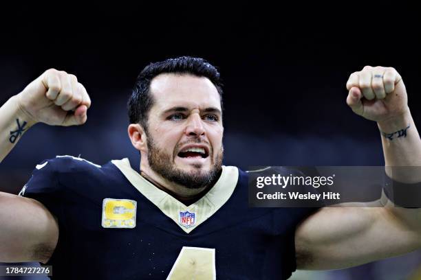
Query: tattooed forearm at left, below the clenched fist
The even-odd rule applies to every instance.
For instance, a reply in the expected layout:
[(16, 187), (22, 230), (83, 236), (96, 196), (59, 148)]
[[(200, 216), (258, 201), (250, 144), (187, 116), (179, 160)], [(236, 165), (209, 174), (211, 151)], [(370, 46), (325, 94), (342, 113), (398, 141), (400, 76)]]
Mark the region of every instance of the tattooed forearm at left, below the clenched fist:
[(0, 107), (0, 163), (34, 125), (34, 121), (19, 108), (17, 98), (17, 95), (11, 97)]

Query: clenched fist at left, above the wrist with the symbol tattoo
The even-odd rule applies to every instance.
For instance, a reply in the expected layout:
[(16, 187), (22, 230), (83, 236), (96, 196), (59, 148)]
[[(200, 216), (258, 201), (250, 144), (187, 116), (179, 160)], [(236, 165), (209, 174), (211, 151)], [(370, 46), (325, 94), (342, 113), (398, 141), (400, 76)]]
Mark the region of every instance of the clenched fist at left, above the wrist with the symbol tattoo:
[(17, 95), (21, 110), (33, 123), (51, 126), (85, 124), (91, 100), (75, 75), (49, 69)]

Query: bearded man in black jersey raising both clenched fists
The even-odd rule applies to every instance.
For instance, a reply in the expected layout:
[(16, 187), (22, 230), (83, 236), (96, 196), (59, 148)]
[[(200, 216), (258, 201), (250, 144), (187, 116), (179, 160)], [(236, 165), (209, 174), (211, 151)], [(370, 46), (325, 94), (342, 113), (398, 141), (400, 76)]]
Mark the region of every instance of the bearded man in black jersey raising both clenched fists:
[[(399, 73), (365, 67), (347, 89), (352, 110), (377, 121), (386, 165), (420, 166)], [(0, 159), (30, 126), (84, 124), (89, 106), (74, 75), (46, 71), (1, 107)], [(0, 261), (52, 264), (58, 279), (287, 279), (420, 248), (419, 209), (248, 208), (248, 174), (222, 166), (219, 73), (200, 58), (146, 67), (129, 117), (140, 174), (124, 159), (43, 161), (21, 196), (0, 196)]]

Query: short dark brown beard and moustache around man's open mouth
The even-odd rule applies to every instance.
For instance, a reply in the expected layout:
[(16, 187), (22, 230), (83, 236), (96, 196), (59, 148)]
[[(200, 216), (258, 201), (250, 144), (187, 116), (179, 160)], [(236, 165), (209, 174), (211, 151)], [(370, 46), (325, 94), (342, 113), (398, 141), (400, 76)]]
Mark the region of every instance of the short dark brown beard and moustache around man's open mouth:
[[(199, 139), (195, 143), (201, 143)], [(147, 136), (148, 144), (148, 161), (151, 169), (160, 174), (166, 180), (169, 180), (178, 185), (182, 185), (188, 189), (200, 189), (208, 187), (215, 182), (222, 170), (222, 159), (224, 157), (224, 148), (221, 148), (216, 156), (216, 160), (211, 165), (210, 170), (203, 171), (200, 167), (202, 165), (192, 165), (194, 168), (190, 172), (181, 170), (175, 167), (173, 159), (177, 154), (168, 154), (162, 151), (158, 145), (153, 141), (150, 135)], [(185, 144), (185, 143), (183, 143)], [(177, 145), (178, 146), (178, 145)], [(177, 147), (175, 147), (175, 151)], [(208, 156), (213, 156), (213, 149), (210, 150)]]

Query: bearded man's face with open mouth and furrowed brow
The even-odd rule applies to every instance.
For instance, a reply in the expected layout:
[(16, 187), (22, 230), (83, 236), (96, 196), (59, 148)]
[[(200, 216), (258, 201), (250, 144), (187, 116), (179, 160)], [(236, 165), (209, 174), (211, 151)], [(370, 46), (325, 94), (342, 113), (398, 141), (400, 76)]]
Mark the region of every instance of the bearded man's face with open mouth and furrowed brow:
[(221, 102), (204, 77), (161, 74), (151, 82), (154, 104), (148, 120), (148, 162), (167, 180), (206, 187), (221, 169)]

